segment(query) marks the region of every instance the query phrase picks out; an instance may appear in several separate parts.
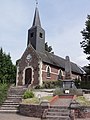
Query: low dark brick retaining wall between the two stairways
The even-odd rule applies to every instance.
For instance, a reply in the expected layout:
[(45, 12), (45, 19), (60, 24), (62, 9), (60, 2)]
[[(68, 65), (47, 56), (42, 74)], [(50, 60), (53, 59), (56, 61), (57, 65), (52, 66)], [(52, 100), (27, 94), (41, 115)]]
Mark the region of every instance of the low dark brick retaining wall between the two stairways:
[(29, 117), (41, 118), (45, 109), (49, 106), (20, 104), (19, 113)]

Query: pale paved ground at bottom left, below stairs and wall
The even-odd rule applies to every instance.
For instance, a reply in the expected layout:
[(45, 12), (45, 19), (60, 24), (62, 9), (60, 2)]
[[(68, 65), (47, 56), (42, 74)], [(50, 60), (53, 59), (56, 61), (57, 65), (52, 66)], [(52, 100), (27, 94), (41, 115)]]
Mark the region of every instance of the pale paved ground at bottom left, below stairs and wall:
[(26, 117), (18, 114), (0, 113), (0, 120), (41, 120), (40, 118)]

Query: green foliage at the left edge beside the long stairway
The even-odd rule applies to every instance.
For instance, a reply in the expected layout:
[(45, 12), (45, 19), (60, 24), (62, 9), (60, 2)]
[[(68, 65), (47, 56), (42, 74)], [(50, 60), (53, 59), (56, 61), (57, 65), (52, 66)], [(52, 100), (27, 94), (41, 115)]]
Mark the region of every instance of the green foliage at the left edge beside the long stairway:
[(7, 97), (7, 90), (9, 88), (9, 85), (7, 84), (0, 84), (0, 104), (2, 104), (6, 97)]

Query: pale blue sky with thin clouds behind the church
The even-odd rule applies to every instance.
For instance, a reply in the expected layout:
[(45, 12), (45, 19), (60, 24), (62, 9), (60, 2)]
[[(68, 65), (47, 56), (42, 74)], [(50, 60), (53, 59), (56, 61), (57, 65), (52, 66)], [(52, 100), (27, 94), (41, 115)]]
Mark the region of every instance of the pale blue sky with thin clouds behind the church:
[[(0, 0), (0, 47), (10, 53), (14, 64), (27, 47), (35, 7), (35, 0)], [(54, 54), (69, 56), (79, 66), (87, 65), (80, 31), (90, 14), (90, 0), (38, 0), (38, 9), (45, 41)]]

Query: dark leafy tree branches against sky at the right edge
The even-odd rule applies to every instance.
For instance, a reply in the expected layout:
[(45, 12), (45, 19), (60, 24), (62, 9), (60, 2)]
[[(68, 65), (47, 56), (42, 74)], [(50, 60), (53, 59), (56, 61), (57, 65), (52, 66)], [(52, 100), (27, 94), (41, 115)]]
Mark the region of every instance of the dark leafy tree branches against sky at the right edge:
[(85, 26), (86, 28), (81, 31), (84, 40), (80, 44), (84, 53), (88, 55), (87, 59), (90, 60), (90, 15), (87, 15)]

